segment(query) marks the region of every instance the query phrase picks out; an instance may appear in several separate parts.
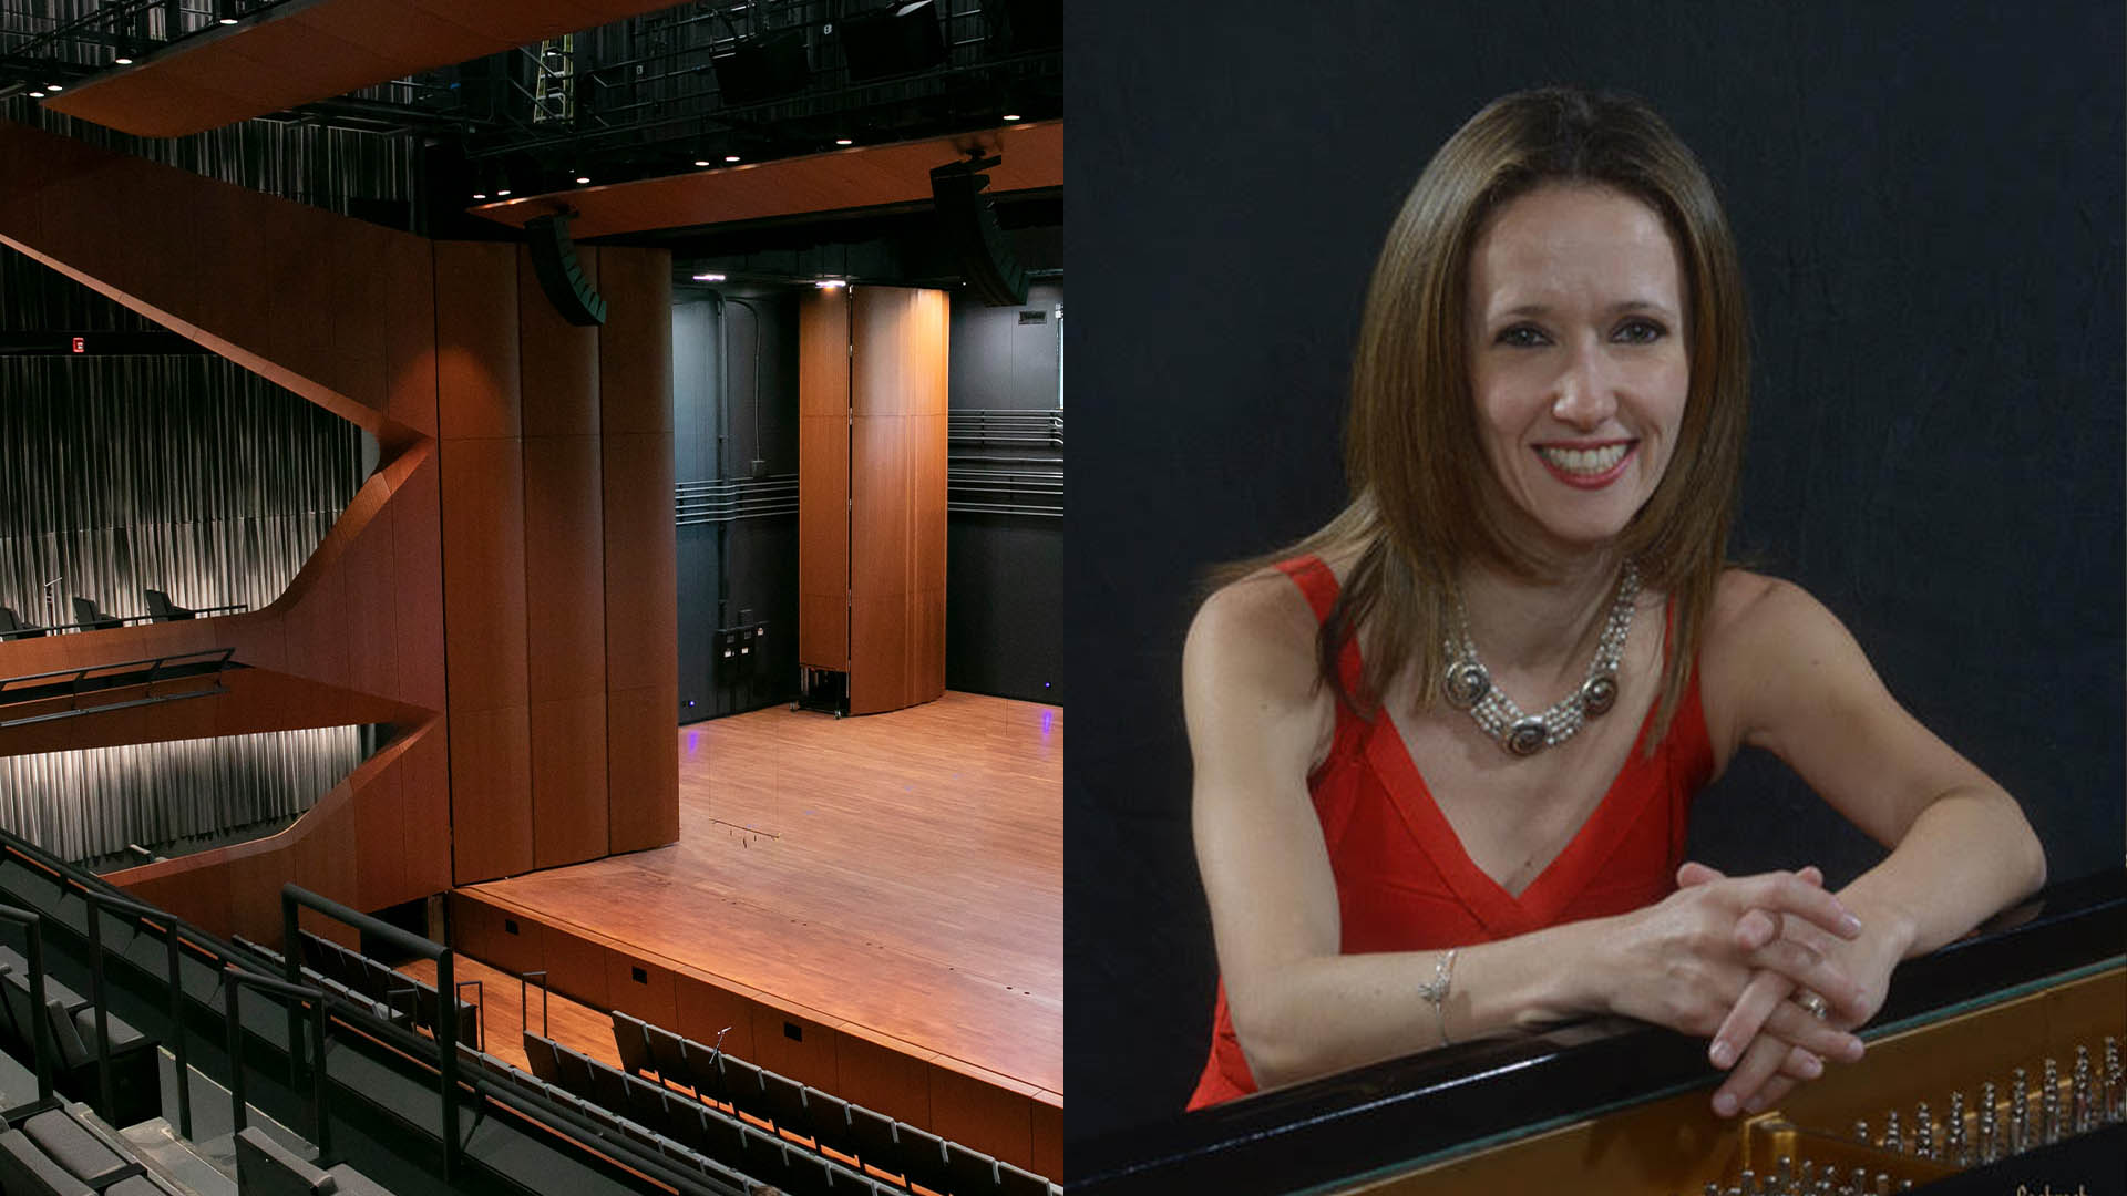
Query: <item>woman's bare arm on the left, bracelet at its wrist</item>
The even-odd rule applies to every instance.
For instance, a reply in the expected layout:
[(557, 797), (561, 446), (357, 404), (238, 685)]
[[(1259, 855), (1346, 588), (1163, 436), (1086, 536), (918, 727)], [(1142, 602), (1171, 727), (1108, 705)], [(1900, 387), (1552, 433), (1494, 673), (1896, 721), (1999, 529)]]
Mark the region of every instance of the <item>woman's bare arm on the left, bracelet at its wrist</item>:
[[(1336, 698), (1317, 683), (1314, 634), (1297, 589), (1266, 575), (1215, 594), (1183, 653), (1198, 864), (1234, 1028), (1266, 1087), (1440, 1045), (1440, 1017), (1419, 996), (1440, 953), (1340, 953), (1336, 879), (1306, 785), (1336, 728)], [(1738, 947), (1736, 921), (1751, 909), (1825, 928), (1848, 917), (1823, 890), (1780, 873), (1463, 947), (1446, 1032), (1463, 1041), (1629, 1013), (1712, 1034), (1755, 968), (1776, 968), (1833, 1000), (1857, 996), (1836, 966), (1785, 938)], [(1774, 1024), (1823, 1053), (1859, 1049), (1808, 1017)]]

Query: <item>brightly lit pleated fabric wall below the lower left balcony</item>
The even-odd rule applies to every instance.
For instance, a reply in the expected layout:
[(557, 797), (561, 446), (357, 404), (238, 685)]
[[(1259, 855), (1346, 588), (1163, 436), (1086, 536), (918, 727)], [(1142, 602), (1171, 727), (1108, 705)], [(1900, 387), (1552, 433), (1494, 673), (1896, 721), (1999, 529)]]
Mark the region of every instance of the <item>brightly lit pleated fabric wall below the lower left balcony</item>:
[[(64, 860), (289, 819), (362, 764), (359, 728), (0, 758), (0, 826)], [(157, 851), (166, 853), (166, 851)]]

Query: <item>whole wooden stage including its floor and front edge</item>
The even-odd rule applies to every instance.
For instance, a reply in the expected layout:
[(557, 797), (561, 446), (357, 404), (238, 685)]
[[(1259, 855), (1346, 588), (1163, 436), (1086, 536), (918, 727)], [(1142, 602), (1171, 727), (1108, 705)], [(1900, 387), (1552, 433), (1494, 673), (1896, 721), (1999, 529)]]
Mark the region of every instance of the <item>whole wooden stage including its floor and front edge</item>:
[(457, 890), (462, 949), (1059, 1175), (1064, 711), (676, 734), (681, 841)]

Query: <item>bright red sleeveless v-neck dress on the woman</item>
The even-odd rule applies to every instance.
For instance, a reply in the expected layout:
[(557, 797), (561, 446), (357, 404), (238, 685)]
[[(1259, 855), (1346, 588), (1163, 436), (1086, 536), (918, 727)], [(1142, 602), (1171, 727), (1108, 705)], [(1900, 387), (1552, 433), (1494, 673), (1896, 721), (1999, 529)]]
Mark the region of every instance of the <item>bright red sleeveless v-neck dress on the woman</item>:
[[(1338, 581), (1319, 558), (1278, 564), (1300, 585), (1314, 617), (1336, 607)], [(1361, 675), (1359, 645), (1338, 655), (1346, 692)], [(1395, 721), (1376, 711), (1361, 717), (1338, 702), (1327, 760), (1308, 777), (1314, 815), (1336, 875), (1340, 951), (1434, 951), (1512, 938), (1563, 921), (1642, 909), (1676, 887), (1685, 862), (1691, 798), (1712, 779), (1714, 751), (1699, 709), (1699, 675), (1691, 670), (1670, 732), (1644, 751), (1653, 734), (1648, 709), (1631, 755), (1602, 802), (1565, 849), (1521, 894), (1506, 892), (1463, 851), (1455, 828), (1434, 804), (1425, 777), (1410, 760)], [(1417, 994), (1412, 1017), (1423, 1015)], [(1225, 983), (1212, 1011), (1210, 1060), (1191, 1109), (1255, 1092), (1249, 1060), (1234, 1036)]]

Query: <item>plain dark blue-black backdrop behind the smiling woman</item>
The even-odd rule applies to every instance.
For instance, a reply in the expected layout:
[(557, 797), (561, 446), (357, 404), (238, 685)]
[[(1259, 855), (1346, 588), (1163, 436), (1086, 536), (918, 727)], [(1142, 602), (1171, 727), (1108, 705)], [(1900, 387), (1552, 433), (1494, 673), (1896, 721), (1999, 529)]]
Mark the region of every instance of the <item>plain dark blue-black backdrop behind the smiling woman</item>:
[[(1719, 15), (1708, 15), (1719, 13)], [(1755, 370), (1734, 551), (2016, 794), (2123, 856), (2121, 6), (1072, 0), (1072, 1141), (1180, 1109), (1217, 962), (1180, 643), (1202, 570), (1344, 498), (1361, 292), (1434, 149), (1542, 83), (1651, 100), (1727, 202)], [(1746, 753), (1734, 870), (1880, 851)]]

